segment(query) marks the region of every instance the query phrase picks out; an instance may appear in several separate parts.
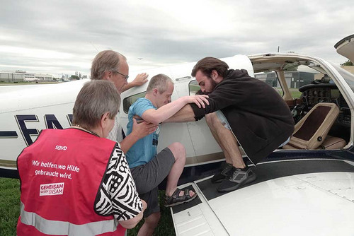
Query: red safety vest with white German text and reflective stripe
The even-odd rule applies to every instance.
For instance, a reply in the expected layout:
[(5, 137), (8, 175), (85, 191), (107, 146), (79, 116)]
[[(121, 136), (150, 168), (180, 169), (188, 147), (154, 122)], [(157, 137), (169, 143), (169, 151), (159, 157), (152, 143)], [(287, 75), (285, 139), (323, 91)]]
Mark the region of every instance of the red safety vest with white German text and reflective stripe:
[(115, 142), (79, 129), (43, 130), (17, 158), (17, 235), (124, 235), (94, 207)]

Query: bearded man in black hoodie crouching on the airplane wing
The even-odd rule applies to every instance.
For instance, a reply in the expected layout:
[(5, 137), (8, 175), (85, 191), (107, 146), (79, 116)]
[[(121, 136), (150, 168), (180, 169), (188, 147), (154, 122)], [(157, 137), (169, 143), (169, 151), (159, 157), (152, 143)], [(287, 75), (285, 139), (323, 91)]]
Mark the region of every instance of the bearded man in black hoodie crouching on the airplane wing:
[(185, 105), (166, 122), (206, 118), (226, 159), (211, 181), (221, 182), (218, 191), (234, 191), (256, 179), (253, 170), (245, 165), (239, 145), (256, 164), (289, 141), (294, 120), (279, 93), (244, 69), (229, 69), (224, 61), (205, 57), (195, 64), (192, 76), (202, 93), (209, 96), (210, 104), (205, 108)]

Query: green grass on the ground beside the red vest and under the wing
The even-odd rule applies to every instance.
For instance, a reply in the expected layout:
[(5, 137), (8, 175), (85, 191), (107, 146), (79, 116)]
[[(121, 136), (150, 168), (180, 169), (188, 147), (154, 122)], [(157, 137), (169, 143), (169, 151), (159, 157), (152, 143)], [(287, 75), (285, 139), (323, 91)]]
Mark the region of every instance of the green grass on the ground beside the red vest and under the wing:
[[(20, 180), (0, 178), (0, 235), (16, 235), (16, 224), (20, 215)], [(154, 235), (176, 235), (169, 208), (162, 202), (164, 191), (160, 191), (161, 220)], [(132, 230), (128, 230), (128, 236), (137, 235), (143, 220)], [(84, 236), (84, 235), (83, 235)]]

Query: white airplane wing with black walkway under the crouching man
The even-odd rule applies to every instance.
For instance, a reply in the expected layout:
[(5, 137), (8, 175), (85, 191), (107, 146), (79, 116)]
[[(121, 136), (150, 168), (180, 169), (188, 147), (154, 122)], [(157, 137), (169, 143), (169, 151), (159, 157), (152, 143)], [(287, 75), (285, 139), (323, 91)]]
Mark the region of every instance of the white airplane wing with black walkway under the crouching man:
[(353, 162), (285, 160), (251, 168), (258, 179), (226, 194), (217, 192), (210, 177), (193, 182), (198, 199), (171, 208), (176, 235), (354, 232)]

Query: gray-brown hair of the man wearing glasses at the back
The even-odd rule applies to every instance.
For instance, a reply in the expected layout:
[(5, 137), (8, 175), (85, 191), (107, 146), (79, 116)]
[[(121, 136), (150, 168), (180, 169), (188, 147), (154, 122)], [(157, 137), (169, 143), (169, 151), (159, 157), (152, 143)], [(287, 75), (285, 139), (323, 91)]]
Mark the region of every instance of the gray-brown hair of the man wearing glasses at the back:
[(117, 71), (120, 59), (127, 61), (126, 57), (113, 50), (99, 52), (92, 61), (91, 79), (100, 80), (103, 78), (105, 71)]

